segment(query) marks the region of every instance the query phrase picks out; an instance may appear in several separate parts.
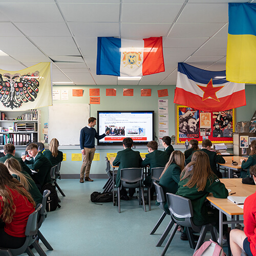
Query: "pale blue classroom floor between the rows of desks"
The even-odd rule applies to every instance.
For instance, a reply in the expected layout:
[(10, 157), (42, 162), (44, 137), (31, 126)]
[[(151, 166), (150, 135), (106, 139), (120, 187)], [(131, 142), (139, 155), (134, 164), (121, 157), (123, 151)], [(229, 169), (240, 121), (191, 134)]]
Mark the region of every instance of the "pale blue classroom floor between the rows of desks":
[[(156, 233), (150, 235), (162, 210), (152, 201), (152, 210), (148, 211), (146, 205), (147, 211), (144, 212), (136, 199), (121, 201), (120, 214), (113, 203), (92, 203), (91, 193), (102, 192), (105, 182), (105, 179), (84, 183), (77, 179), (57, 181), (66, 197), (58, 193), (61, 208), (48, 212), (40, 228), (54, 248), (48, 251), (39, 242), (47, 255), (161, 255), (166, 241), (161, 247), (155, 245), (169, 222), (169, 216)], [(177, 232), (165, 255), (189, 256), (193, 252), (188, 241), (181, 241), (180, 232)]]

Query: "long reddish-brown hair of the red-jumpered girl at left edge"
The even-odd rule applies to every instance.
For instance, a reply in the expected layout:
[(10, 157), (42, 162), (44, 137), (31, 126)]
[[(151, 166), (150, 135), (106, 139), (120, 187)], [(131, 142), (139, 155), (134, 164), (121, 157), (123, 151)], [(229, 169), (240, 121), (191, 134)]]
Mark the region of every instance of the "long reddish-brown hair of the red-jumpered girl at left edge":
[(22, 197), (26, 197), (34, 207), (35, 202), (22, 183), (10, 175), (7, 167), (3, 163), (0, 163), (0, 177), (0, 196), (2, 197), (0, 202), (3, 210), (0, 218), (5, 223), (11, 223), (16, 211), (16, 206), (13, 204), (13, 196), (10, 189), (16, 191), (16, 193), (20, 194)]

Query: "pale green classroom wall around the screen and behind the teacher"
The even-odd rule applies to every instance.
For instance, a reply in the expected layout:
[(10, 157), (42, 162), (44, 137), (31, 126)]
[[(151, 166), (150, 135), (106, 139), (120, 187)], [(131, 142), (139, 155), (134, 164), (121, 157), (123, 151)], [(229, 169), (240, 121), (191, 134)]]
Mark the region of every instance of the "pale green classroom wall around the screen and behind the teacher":
[[(100, 104), (91, 104), (90, 106), (90, 116), (97, 117), (97, 110), (154, 110), (155, 111), (155, 132), (158, 137), (158, 99), (168, 99), (169, 103), (169, 136), (175, 135), (175, 104), (174, 91), (176, 86), (53, 86), (53, 90), (68, 90), (69, 100), (54, 100), (53, 104), (56, 103), (90, 103), (90, 88), (100, 89)], [(105, 96), (105, 89), (116, 89), (116, 96)], [(123, 96), (123, 89), (134, 89), (134, 96)], [(73, 97), (72, 89), (82, 89), (82, 97)], [(141, 97), (141, 89), (152, 89), (151, 97)], [(168, 97), (158, 98), (158, 90), (168, 89)], [(256, 96), (256, 86), (246, 85), (246, 101), (247, 105), (242, 106), (237, 109), (237, 121), (250, 120), (253, 113), (256, 110), (255, 96)], [(41, 110), (41, 130), (44, 127), (44, 123), (48, 122), (48, 108), (40, 108)], [(69, 117), (65, 116), (65, 113), (60, 113), (63, 118), (67, 119), (69, 122)], [(87, 123), (84, 123), (86, 126)], [(41, 131), (42, 132), (42, 131)], [(71, 131), (72, 132), (72, 131)], [(79, 134), (77, 135), (79, 136)], [(41, 134), (41, 138), (44, 135)], [(60, 141), (61, 144), (61, 141)], [(160, 146), (162, 148), (162, 146)], [(174, 145), (175, 149), (181, 151), (185, 150), (184, 145)], [(63, 162), (61, 166), (61, 173), (63, 178), (78, 178), (80, 173), (81, 161), (71, 161), (72, 153), (80, 153), (79, 146), (60, 146), (59, 150), (67, 154), (67, 161)], [(100, 154), (100, 161), (93, 161), (91, 168), (92, 177), (105, 177), (105, 159), (107, 153), (116, 153), (122, 150), (122, 146), (96, 146), (96, 153)], [(135, 148), (142, 153), (147, 152), (146, 146), (138, 146)], [(229, 150), (232, 153), (232, 150)], [(17, 155), (21, 152), (17, 152)]]

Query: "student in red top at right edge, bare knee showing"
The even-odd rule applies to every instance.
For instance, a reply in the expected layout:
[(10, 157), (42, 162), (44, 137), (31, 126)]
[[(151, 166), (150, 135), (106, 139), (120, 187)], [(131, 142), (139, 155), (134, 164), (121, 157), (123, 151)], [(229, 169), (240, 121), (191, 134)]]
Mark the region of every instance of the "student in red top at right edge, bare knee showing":
[[(256, 184), (256, 165), (250, 168), (250, 174)], [(256, 255), (256, 192), (244, 201), (244, 231), (232, 229), (230, 248), (233, 256), (240, 256), (242, 249), (248, 256)]]

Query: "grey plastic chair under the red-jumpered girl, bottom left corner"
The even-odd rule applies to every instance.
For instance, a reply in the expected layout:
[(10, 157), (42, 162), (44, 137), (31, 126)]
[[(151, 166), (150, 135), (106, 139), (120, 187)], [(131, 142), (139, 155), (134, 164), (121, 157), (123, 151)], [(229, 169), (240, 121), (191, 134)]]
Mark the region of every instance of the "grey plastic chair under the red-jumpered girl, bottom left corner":
[(35, 242), (36, 234), (37, 234), (37, 219), (40, 209), (42, 208), (42, 204), (38, 204), (37, 208), (28, 218), (25, 236), (26, 240), (22, 247), (19, 247), (17, 249), (10, 249), (10, 248), (0, 248), (0, 255), (10, 255), (10, 256), (16, 256), (20, 255), (24, 252), (27, 252), (28, 255), (34, 256), (34, 253), (29, 248), (31, 244)]

